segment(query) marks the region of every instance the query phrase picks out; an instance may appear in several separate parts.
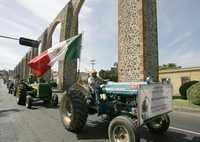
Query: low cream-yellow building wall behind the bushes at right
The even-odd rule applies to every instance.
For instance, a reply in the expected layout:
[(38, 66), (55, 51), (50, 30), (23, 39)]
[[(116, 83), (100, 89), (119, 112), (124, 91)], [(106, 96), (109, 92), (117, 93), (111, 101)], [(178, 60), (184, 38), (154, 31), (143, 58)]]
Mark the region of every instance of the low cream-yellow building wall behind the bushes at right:
[(180, 95), (179, 88), (182, 84), (197, 80), (200, 81), (200, 67), (169, 69), (159, 71), (159, 80), (164, 82), (167, 79), (173, 85), (174, 95)]

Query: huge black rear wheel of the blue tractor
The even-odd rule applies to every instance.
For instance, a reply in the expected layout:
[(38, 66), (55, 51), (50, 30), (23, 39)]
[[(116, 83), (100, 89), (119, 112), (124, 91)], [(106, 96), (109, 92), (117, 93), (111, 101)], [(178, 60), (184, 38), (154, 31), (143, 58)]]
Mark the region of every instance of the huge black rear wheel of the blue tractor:
[(87, 121), (87, 107), (84, 95), (77, 89), (71, 89), (61, 100), (60, 115), (68, 131), (78, 133)]

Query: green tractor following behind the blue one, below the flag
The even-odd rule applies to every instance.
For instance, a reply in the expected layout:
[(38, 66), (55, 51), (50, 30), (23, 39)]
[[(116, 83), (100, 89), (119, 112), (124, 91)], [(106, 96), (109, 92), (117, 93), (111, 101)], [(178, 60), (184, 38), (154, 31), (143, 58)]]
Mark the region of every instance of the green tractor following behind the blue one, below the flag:
[(58, 96), (52, 94), (52, 87), (49, 83), (40, 79), (39, 83), (33, 76), (29, 77), (29, 81), (21, 81), (16, 90), (17, 104), (25, 105), (31, 108), (33, 101), (44, 101), (51, 103), (53, 106), (58, 104)]

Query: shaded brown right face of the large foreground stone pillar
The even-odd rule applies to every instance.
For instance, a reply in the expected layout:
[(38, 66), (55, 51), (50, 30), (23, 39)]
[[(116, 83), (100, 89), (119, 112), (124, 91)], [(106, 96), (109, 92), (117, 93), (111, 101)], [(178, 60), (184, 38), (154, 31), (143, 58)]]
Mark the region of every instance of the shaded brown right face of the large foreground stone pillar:
[(158, 36), (156, 0), (144, 0), (144, 75), (158, 81)]

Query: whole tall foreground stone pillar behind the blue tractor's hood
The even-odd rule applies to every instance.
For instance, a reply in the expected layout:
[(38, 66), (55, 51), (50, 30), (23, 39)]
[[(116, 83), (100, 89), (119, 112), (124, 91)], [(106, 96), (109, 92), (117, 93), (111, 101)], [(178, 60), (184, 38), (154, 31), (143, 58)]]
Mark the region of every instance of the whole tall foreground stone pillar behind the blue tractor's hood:
[(118, 0), (119, 81), (158, 81), (156, 0)]

